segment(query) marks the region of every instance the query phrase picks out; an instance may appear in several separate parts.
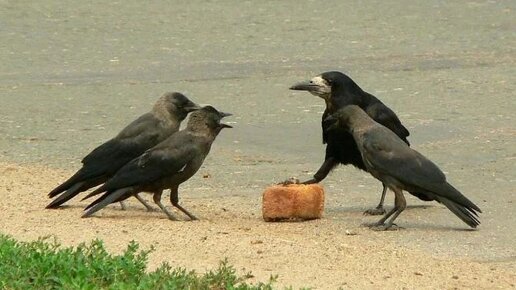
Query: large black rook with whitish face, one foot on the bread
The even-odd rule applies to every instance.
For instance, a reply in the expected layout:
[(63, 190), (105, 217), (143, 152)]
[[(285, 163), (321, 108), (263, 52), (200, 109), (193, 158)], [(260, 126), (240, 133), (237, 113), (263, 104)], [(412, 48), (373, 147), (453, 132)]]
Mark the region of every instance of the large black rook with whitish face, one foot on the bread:
[[(338, 109), (348, 105), (357, 105), (378, 123), (389, 128), (403, 142), (409, 145), (407, 137), (409, 131), (403, 126), (396, 114), (384, 105), (375, 96), (362, 90), (350, 77), (338, 72), (329, 71), (322, 73), (310, 81), (301, 82), (290, 87), (291, 90), (308, 91), (318, 96), (326, 103), (326, 109), (322, 115), (323, 144), (326, 144), (326, 154), (324, 162), (315, 173), (314, 177), (305, 184), (317, 183), (322, 181), (332, 169), (338, 164), (352, 164), (355, 167), (367, 170), (353, 136), (344, 129), (327, 130), (328, 124), (324, 121), (328, 116), (335, 113)], [(380, 203), (376, 208), (365, 211), (365, 214), (380, 215), (385, 213), (383, 203), (387, 187), (383, 184)], [(423, 200), (430, 198), (421, 193), (414, 193), (415, 196)]]

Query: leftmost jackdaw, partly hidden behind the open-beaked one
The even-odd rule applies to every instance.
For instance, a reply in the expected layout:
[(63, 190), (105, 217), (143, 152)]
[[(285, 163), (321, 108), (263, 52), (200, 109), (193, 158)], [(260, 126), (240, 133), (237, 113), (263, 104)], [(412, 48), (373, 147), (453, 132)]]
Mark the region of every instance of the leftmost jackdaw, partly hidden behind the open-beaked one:
[[(106, 182), (127, 162), (177, 132), (187, 114), (198, 109), (198, 105), (181, 93), (165, 93), (150, 112), (86, 155), (82, 168), (48, 194), (49, 198), (61, 195), (46, 208), (58, 208), (80, 192)], [(136, 198), (147, 209), (152, 209), (139, 196)]]

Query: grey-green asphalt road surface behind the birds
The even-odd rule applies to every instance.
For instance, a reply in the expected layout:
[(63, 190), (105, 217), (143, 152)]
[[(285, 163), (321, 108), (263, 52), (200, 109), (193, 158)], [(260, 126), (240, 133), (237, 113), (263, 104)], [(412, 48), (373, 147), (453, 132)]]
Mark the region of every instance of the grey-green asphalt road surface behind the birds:
[[(417, 206), (398, 219), (407, 230), (385, 238), (516, 261), (516, 2), (105, 2), (0, 1), (1, 161), (75, 169), (161, 93), (180, 91), (235, 114), (202, 169), (213, 197), (256, 198), (318, 169), (323, 102), (288, 87), (341, 70), (484, 212), (478, 231), (462, 231), (442, 206), (410, 198)], [(335, 222), (364, 222), (380, 192), (353, 168), (323, 185)]]

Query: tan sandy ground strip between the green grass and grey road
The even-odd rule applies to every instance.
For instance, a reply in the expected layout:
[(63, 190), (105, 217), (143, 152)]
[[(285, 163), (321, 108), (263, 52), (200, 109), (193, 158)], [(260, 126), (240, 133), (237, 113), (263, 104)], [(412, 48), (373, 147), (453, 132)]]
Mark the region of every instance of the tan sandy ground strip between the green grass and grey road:
[[(0, 164), (2, 232), (22, 240), (55, 236), (64, 245), (94, 238), (121, 251), (131, 240), (155, 246), (150, 267), (163, 261), (204, 271), (228, 258), (239, 273), (256, 280), (278, 275), (278, 285), (315, 289), (508, 289), (516, 287), (515, 263), (477, 262), (431, 255), (393, 243), (404, 231), (374, 232), (328, 214), (296, 223), (266, 223), (259, 198), (229, 197), (224, 205), (211, 198), (184, 198), (183, 205), (200, 221), (171, 222), (159, 212), (146, 212), (136, 202), (127, 211), (113, 205), (81, 219), (84, 202), (45, 210), (41, 194), (70, 172)], [(357, 213), (358, 214), (358, 213)], [(473, 231), (456, 231), (473, 235)], [(252, 280), (253, 280), (252, 279)]]

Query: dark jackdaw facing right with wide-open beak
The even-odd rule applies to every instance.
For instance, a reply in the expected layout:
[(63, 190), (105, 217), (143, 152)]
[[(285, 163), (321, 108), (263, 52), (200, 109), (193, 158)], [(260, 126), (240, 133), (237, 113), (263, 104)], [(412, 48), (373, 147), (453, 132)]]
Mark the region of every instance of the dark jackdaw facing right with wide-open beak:
[(184, 130), (133, 159), (113, 178), (86, 196), (88, 198), (105, 192), (86, 207), (86, 213), (82, 217), (89, 217), (110, 203), (125, 200), (145, 191), (154, 194), (154, 202), (169, 219), (177, 220), (161, 203), (163, 190), (169, 188), (172, 205), (190, 219), (196, 220), (193, 214), (179, 205), (178, 187), (199, 170), (219, 132), (223, 128), (231, 128), (221, 123), (222, 118), (230, 115), (219, 112), (212, 106), (203, 107), (190, 114)]

